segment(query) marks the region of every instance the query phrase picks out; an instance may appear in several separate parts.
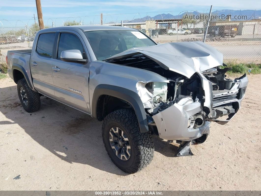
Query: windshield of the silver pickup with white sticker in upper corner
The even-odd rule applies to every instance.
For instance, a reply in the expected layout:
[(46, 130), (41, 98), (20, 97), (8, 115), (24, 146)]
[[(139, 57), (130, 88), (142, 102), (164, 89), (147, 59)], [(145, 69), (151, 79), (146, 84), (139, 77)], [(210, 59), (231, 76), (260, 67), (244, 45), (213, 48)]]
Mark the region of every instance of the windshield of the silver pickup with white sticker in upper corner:
[(104, 60), (133, 47), (156, 45), (147, 36), (134, 30), (85, 31), (98, 60)]

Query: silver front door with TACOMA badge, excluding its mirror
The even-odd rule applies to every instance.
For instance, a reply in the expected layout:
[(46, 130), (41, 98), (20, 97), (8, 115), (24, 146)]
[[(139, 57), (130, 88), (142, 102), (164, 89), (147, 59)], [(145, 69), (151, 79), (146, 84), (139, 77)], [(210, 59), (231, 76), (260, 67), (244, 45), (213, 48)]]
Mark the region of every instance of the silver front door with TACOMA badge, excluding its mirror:
[(52, 71), (55, 97), (58, 101), (68, 104), (74, 108), (90, 113), (89, 103), (89, 64), (66, 62), (60, 59), (62, 51), (78, 49), (84, 59), (90, 59), (87, 48), (81, 36), (71, 30), (63, 32), (60, 30), (56, 58), (53, 60)]

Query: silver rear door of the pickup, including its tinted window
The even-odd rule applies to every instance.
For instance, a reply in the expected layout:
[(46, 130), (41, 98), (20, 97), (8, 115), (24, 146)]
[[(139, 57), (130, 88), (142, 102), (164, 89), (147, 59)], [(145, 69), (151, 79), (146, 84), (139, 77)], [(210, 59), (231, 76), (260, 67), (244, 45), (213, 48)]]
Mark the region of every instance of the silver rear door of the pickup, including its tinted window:
[(49, 97), (54, 97), (52, 79), (52, 58), (54, 55), (55, 31), (44, 32), (38, 36), (32, 49), (30, 68), (35, 89)]

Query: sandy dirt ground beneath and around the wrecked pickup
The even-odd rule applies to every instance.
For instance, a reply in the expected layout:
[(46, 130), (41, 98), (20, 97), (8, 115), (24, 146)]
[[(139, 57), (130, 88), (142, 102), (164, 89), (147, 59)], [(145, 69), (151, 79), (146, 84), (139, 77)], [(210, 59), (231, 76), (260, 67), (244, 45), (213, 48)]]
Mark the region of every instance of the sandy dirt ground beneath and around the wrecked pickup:
[(176, 157), (178, 144), (154, 137), (153, 161), (129, 175), (109, 159), (101, 122), (46, 97), (29, 114), (16, 84), (2, 79), (0, 190), (261, 190), (261, 75), (249, 80), (238, 114), (212, 122), (194, 156)]

